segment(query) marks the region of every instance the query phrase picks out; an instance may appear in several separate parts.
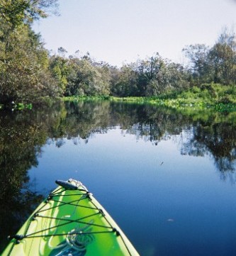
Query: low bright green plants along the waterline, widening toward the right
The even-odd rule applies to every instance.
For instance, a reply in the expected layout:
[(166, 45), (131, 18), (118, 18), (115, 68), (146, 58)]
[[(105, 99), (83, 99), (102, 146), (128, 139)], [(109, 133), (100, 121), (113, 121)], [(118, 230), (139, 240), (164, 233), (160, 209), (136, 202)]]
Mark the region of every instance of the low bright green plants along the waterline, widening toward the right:
[(156, 104), (169, 108), (212, 108), (215, 111), (236, 111), (236, 87), (202, 84), (186, 91), (170, 91), (152, 97), (82, 96), (65, 97), (64, 101), (110, 100), (140, 104)]

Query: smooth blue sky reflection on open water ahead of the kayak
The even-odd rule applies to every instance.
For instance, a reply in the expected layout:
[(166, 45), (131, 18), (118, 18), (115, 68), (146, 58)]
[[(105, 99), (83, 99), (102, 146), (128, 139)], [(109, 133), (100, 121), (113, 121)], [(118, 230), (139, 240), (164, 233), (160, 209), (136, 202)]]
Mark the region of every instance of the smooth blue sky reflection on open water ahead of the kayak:
[(84, 182), (141, 255), (234, 255), (235, 185), (210, 155), (181, 155), (181, 135), (154, 145), (117, 127), (88, 143), (54, 141), (30, 177), (38, 191), (55, 179)]

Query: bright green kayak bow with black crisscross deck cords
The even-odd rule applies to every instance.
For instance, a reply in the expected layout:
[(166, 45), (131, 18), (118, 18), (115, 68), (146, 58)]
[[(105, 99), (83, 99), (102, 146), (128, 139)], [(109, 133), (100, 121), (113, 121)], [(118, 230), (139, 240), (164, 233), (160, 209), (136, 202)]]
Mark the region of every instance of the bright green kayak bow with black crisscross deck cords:
[(86, 187), (59, 185), (10, 239), (2, 256), (138, 256), (135, 247)]

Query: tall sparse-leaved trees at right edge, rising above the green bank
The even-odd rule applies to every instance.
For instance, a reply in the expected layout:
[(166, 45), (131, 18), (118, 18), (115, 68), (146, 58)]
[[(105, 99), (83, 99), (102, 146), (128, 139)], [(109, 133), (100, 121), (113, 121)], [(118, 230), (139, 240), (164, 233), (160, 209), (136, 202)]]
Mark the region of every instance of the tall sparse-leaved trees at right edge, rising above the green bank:
[(183, 50), (189, 57), (191, 84), (236, 84), (236, 37), (225, 28), (212, 48), (189, 45)]

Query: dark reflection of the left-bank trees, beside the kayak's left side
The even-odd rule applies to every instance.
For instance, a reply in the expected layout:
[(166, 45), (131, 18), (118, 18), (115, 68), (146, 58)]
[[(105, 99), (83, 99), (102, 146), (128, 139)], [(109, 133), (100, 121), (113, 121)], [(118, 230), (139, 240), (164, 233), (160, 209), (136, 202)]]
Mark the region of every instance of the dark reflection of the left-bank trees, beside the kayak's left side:
[(7, 243), (6, 236), (16, 233), (43, 199), (33, 191), (27, 171), (38, 165), (41, 147), (62, 112), (62, 108), (50, 113), (0, 112), (0, 251)]

